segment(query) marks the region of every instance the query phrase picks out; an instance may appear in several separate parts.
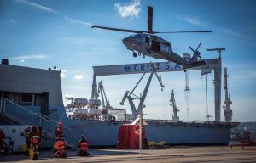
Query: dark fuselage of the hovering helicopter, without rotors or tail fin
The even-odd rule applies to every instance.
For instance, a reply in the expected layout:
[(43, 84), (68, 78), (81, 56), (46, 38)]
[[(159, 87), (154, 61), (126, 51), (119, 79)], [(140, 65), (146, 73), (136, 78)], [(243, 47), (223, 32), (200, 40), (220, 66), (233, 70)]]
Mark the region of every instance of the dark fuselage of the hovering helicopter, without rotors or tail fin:
[(134, 34), (129, 37), (125, 37), (122, 42), (125, 47), (138, 55), (143, 54), (155, 59), (165, 59), (175, 62), (179, 65), (189, 67), (189, 59), (177, 55), (172, 52), (170, 42), (167, 42), (161, 37), (150, 34)]

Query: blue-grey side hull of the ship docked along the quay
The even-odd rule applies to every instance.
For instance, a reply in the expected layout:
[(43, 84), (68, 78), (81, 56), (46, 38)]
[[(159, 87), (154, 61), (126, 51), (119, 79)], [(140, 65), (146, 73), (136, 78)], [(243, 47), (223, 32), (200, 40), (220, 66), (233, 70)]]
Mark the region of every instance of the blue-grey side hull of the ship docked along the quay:
[[(14, 105), (7, 104), (5, 107), (9, 114), (15, 115), (17, 108)], [(37, 113), (36, 108), (30, 110), (35, 110)], [(67, 117), (64, 108), (58, 110), (57, 115), (65, 114), (59, 121), (65, 126), (63, 134), (68, 143), (77, 144), (81, 135), (84, 135), (89, 139), (90, 146), (117, 145), (119, 127), (125, 123), (124, 121), (73, 120)], [(34, 126), (42, 126), (55, 137), (58, 121), (51, 123), (39, 121), (35, 117), (28, 116), (25, 111), (20, 111), (15, 118)], [(51, 118), (53, 119), (54, 116)], [(230, 141), (230, 128), (238, 125), (235, 122), (215, 121), (145, 121), (147, 125), (144, 128), (148, 141), (155, 143), (165, 141), (169, 145), (227, 145)], [(46, 146), (47, 144), (49, 143), (45, 143)]]

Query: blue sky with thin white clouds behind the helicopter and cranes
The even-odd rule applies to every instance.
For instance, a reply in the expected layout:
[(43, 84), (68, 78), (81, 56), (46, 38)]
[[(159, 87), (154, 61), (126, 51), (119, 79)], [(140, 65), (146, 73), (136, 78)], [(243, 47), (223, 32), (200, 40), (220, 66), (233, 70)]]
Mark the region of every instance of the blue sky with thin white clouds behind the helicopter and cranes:
[[(189, 46), (196, 48), (201, 43), (202, 59), (218, 58), (218, 53), (207, 52), (206, 48), (226, 48), (222, 64), (228, 69), (232, 121), (256, 121), (256, 2), (253, 0), (0, 0), (0, 56), (9, 59), (10, 65), (41, 69), (56, 66), (61, 70), (63, 98), (90, 98), (92, 66), (164, 61), (133, 58), (121, 42), (131, 33), (91, 28), (103, 25), (145, 31), (147, 6), (154, 7), (154, 31), (213, 31), (159, 36), (171, 42), (172, 51), (178, 54), (193, 54)], [(97, 81), (103, 81), (113, 108), (125, 108), (131, 113), (128, 101), (124, 106), (119, 102), (141, 76), (98, 76)], [(148, 76), (137, 87), (137, 95), (143, 93)], [(189, 71), (189, 108), (184, 72), (166, 72), (161, 76), (165, 89), (161, 91), (154, 76), (144, 103), (146, 118), (172, 119), (169, 100), (174, 89), (181, 120), (206, 120), (206, 83), (200, 71)], [(208, 110), (212, 116), (213, 78), (213, 73), (207, 75)], [(224, 121), (223, 110), (221, 121)]]

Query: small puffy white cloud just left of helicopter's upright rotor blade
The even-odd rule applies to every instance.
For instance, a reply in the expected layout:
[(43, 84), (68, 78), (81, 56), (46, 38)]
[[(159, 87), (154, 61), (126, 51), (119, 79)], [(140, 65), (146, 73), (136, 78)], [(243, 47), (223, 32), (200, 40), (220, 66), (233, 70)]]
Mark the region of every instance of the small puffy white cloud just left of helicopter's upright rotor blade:
[(119, 15), (122, 18), (125, 17), (138, 17), (141, 12), (140, 0), (132, 0), (129, 4), (121, 5), (120, 3), (115, 3), (114, 7), (118, 10)]

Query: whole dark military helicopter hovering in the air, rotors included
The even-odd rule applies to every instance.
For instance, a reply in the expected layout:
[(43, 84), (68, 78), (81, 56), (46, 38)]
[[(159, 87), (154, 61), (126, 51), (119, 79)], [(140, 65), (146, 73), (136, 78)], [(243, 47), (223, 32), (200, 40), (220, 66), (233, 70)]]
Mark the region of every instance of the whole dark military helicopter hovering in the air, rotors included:
[(93, 25), (91, 28), (100, 28), (104, 30), (111, 31), (123, 31), (123, 32), (132, 32), (129, 37), (125, 37), (122, 42), (125, 47), (133, 52), (133, 57), (137, 57), (137, 55), (143, 54), (143, 58), (145, 56), (153, 57), (154, 59), (165, 59), (168, 61), (172, 61), (179, 65), (183, 66), (183, 70), (197, 67), (201, 65), (206, 65), (206, 62), (201, 59), (201, 53), (198, 52), (198, 48), (200, 48), (201, 43), (194, 50), (189, 47), (193, 52), (193, 57), (191, 58), (190, 54), (183, 53), (183, 57), (174, 53), (171, 48), (171, 43), (167, 42), (165, 39), (156, 36), (154, 34), (160, 33), (202, 33), (202, 32), (212, 32), (212, 31), (167, 31), (167, 32), (159, 32), (153, 30), (153, 7), (148, 6), (148, 31), (137, 31), (137, 30), (127, 30), (127, 29), (119, 29), (119, 28), (111, 28), (106, 26)]

